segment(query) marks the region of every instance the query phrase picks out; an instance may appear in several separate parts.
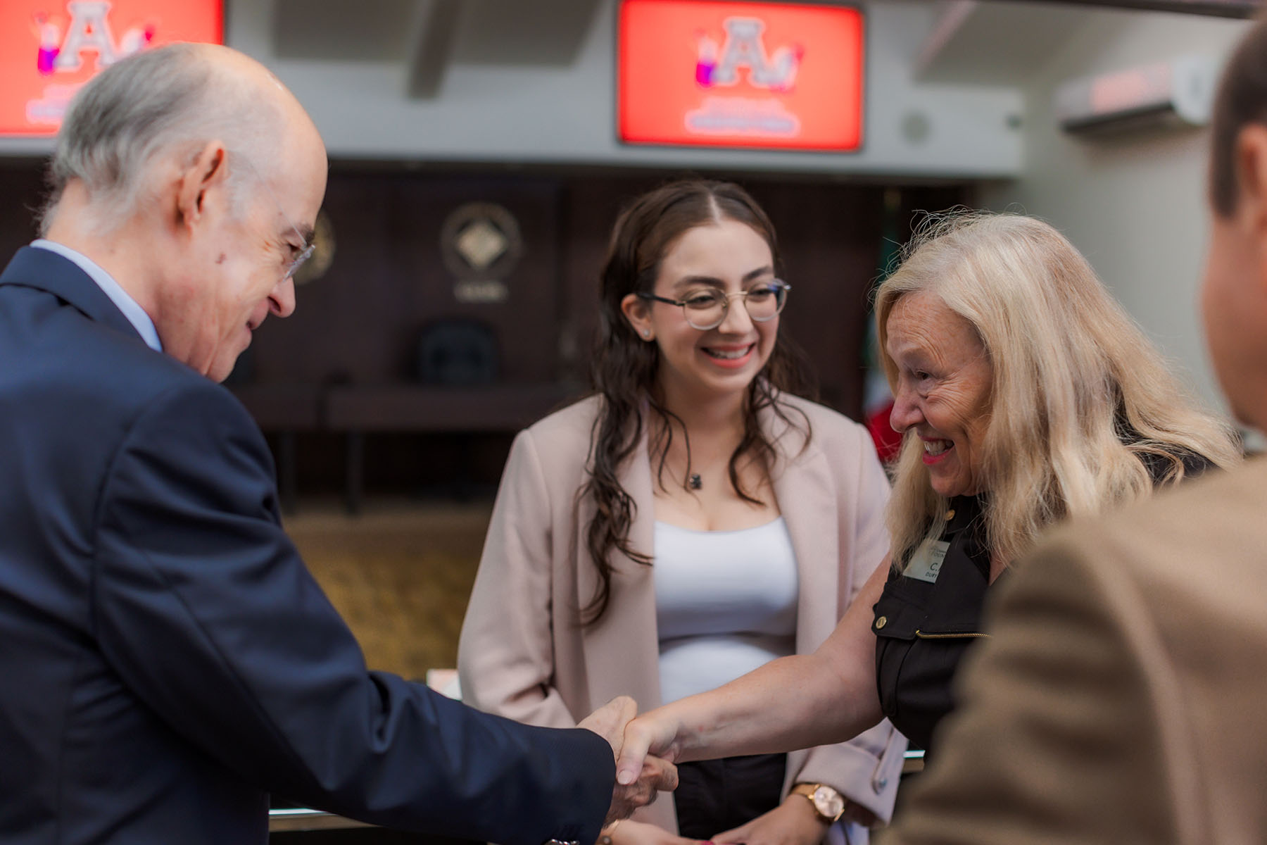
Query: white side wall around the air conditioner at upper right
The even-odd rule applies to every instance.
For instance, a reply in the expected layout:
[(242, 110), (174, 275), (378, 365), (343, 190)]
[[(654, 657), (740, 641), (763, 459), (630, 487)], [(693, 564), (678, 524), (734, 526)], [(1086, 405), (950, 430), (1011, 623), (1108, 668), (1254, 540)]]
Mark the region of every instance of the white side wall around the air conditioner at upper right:
[(1026, 86), (1021, 177), (983, 204), (1016, 205), (1064, 232), (1126, 309), (1221, 407), (1201, 334), (1196, 291), (1205, 253), (1207, 130), (1090, 141), (1052, 114), (1060, 82), (1186, 53), (1226, 58), (1245, 22), (1097, 10)]

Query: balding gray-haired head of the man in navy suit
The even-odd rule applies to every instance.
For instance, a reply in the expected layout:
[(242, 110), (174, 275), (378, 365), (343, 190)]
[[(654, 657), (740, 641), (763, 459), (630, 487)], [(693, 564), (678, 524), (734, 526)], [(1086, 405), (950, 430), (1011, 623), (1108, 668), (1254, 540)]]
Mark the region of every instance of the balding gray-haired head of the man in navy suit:
[(294, 310), (326, 170), (313, 122), (262, 65), (163, 47), (71, 104), (43, 234), (114, 279), (163, 352), (220, 380), (269, 314)]

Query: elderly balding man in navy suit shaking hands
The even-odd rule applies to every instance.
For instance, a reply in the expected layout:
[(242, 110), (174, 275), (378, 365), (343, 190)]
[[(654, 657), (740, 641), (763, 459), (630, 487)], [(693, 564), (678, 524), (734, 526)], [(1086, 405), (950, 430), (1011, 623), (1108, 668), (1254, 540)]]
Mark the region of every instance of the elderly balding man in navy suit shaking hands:
[(295, 307), (326, 152), (252, 60), (180, 44), (76, 98), (43, 237), (0, 276), (0, 840), (264, 842), (267, 793), (589, 845), (634, 703), (527, 727), (367, 671), (217, 381)]

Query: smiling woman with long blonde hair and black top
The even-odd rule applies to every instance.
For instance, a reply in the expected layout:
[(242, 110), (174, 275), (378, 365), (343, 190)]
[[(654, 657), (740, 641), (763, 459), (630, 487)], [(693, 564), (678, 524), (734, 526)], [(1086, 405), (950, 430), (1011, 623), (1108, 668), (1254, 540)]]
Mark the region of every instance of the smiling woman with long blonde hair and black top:
[(786, 750), (882, 716), (930, 750), (963, 656), (988, 636), (987, 592), (1039, 532), (1239, 460), (1230, 427), (1041, 220), (931, 218), (875, 313), (905, 438), (889, 565), (812, 655), (631, 722), (622, 778), (647, 749), (678, 761)]

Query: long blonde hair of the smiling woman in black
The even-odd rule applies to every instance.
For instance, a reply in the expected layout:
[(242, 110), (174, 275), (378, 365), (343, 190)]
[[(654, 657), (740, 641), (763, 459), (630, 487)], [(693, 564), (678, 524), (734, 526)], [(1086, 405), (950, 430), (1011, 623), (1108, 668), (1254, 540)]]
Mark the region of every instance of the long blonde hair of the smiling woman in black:
[[(1183, 476), (1182, 457), (1235, 464), (1233, 429), (1202, 410), (1087, 260), (1049, 224), (1019, 215), (930, 217), (875, 294), (881, 361), (891, 386), (888, 315), (929, 291), (976, 328), (993, 370), (982, 443), (984, 527), (1011, 564), (1057, 519), (1148, 495), (1142, 457)], [(946, 499), (922, 447), (903, 440), (889, 500), (893, 565), (935, 537)]]

